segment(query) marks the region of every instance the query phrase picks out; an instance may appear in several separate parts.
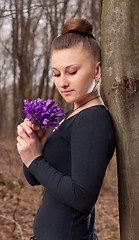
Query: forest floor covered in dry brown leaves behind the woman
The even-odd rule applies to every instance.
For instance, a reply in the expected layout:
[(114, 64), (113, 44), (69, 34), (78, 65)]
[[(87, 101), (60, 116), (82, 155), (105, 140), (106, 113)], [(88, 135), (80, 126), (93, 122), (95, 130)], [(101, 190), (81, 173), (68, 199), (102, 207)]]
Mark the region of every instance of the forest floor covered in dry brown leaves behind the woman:
[[(9, 134), (8, 134), (9, 135)], [(114, 154), (96, 204), (99, 240), (119, 240), (117, 167)], [(29, 240), (32, 224), (42, 199), (40, 186), (25, 180), (13, 139), (0, 137), (0, 239)], [(66, 239), (65, 239), (66, 240)]]

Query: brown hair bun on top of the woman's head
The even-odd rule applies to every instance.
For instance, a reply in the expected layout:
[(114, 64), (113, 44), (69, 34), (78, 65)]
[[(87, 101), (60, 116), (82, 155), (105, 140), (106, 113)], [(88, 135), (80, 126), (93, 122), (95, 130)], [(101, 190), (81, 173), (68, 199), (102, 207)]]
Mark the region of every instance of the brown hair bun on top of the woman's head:
[(62, 35), (71, 31), (79, 31), (85, 34), (92, 34), (93, 25), (87, 19), (72, 18), (64, 24)]

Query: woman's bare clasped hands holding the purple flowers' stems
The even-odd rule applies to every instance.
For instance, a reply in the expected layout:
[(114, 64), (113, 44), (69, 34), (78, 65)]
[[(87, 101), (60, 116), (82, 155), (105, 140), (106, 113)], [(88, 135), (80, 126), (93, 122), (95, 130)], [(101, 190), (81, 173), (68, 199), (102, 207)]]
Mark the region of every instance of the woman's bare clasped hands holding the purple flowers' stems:
[(42, 154), (44, 144), (48, 138), (47, 131), (40, 126), (32, 126), (24, 121), (17, 127), (17, 150), (24, 164), (29, 167), (31, 162)]

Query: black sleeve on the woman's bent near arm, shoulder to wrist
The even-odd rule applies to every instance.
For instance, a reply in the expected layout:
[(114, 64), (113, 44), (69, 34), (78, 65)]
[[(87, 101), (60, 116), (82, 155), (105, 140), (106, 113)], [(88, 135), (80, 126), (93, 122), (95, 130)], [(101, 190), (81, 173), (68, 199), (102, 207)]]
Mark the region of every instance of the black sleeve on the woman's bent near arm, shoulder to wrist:
[(81, 212), (95, 204), (108, 161), (109, 124), (101, 111), (82, 111), (71, 131), (71, 177), (41, 156), (29, 171), (59, 201)]

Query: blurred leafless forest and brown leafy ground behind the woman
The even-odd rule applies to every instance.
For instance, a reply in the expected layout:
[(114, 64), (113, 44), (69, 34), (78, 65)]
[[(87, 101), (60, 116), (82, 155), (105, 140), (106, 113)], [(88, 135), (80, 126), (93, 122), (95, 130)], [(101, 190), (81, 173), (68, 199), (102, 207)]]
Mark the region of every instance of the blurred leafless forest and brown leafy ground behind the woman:
[[(0, 3), (0, 239), (27, 240), (41, 204), (42, 188), (25, 181), (16, 150), (16, 126), (25, 117), (23, 99), (52, 97), (66, 112), (71, 105), (55, 89), (50, 46), (71, 17), (94, 25), (101, 43), (102, 0), (2, 0)], [(96, 231), (102, 240), (118, 240), (119, 213), (114, 155), (96, 204)]]

